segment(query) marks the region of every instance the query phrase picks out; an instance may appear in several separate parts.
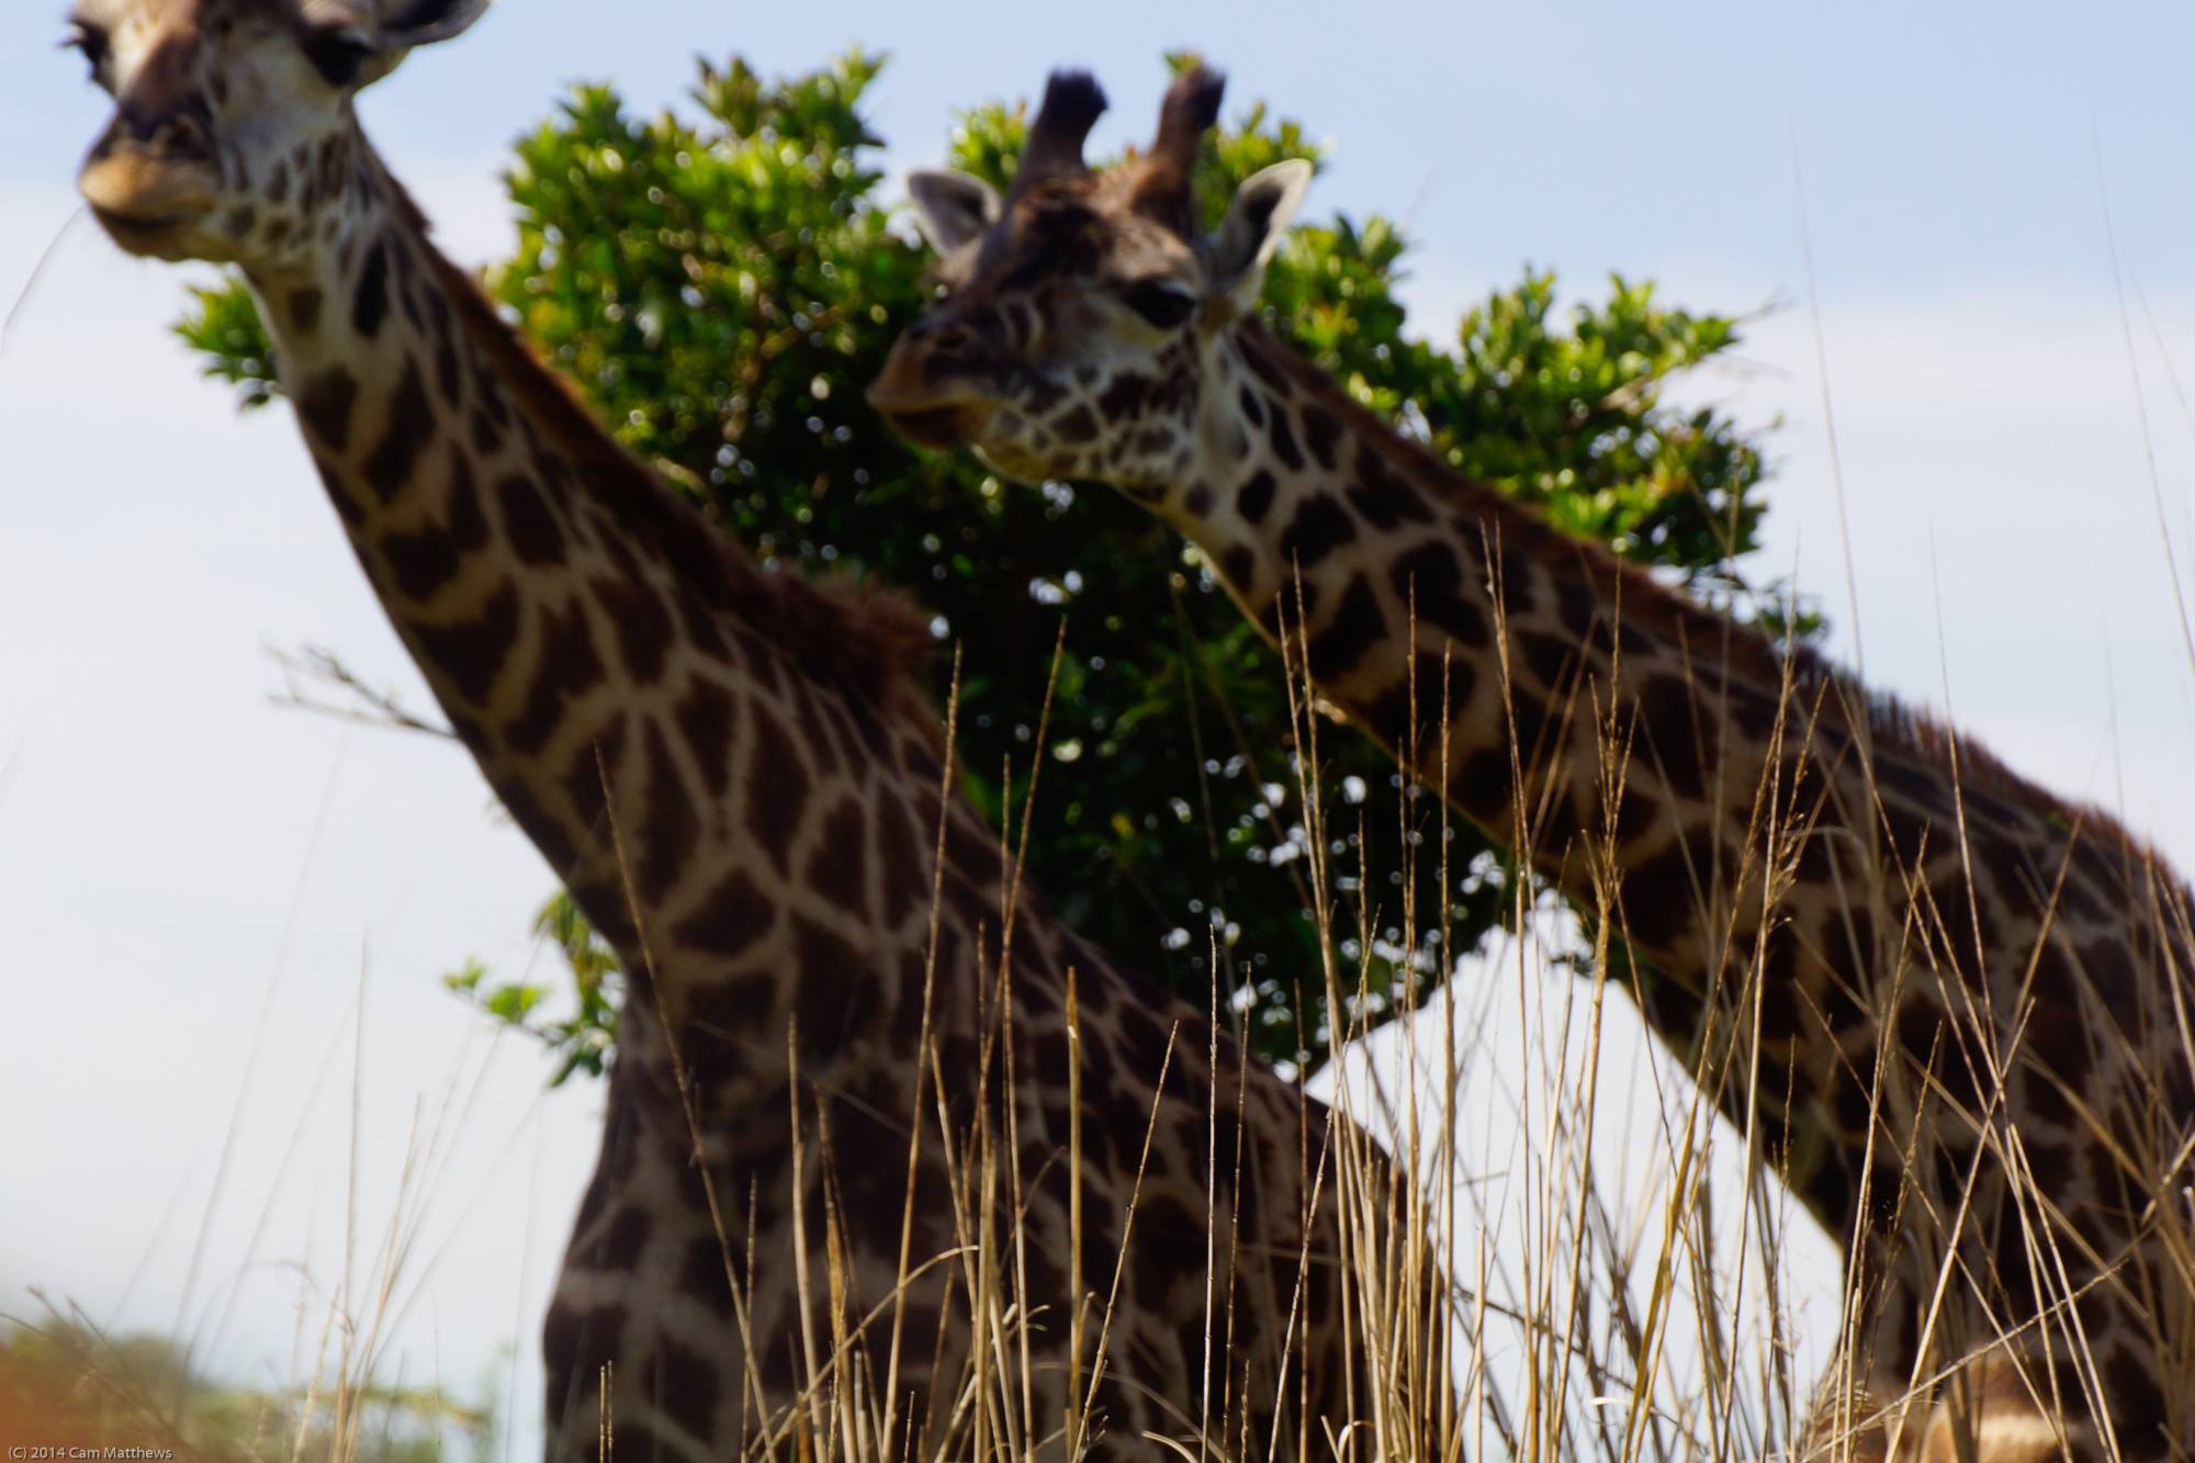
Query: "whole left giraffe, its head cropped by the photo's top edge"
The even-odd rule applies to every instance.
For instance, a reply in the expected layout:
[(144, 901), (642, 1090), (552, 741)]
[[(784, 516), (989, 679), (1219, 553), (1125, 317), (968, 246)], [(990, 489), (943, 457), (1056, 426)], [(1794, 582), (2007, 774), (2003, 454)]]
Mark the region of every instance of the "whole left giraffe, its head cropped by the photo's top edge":
[(950, 791), (924, 617), (718, 536), (364, 138), (356, 92), (485, 9), (79, 0), (114, 97), (79, 187), (123, 250), (241, 268), (397, 635), (634, 973), (549, 1456), (1346, 1432), (1394, 1309), (1341, 1224), (1361, 1133), (1023, 890)]

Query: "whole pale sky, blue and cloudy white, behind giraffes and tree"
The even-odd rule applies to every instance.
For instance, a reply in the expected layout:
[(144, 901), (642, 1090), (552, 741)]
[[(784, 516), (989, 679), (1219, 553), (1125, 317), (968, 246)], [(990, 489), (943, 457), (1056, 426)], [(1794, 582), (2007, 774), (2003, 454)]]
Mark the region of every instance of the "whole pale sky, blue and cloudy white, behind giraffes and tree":
[[(0, 20), (7, 303), (72, 213), (105, 116), (50, 48), (59, 33), (48, 0)], [(1651, 275), (1697, 308), (1787, 301), (1754, 330), (1749, 371), (1688, 393), (1785, 420), (1763, 567), (1798, 567), (1850, 659), (1817, 340), (1791, 303), (1798, 156), (1870, 679), (1934, 705), (1949, 685), (1958, 723), (2015, 767), (2195, 861), (2188, 663), (2158, 536), (2162, 499), (2191, 562), (2195, 424), (2173, 371), (2195, 376), (2195, 9), (503, 0), (367, 114), (448, 246), (479, 261), (509, 237), (500, 154), (564, 83), (606, 77), (658, 105), (696, 53), (799, 70), (854, 42), (893, 53), (871, 114), (896, 169), (939, 156), (957, 105), (1027, 94), (1056, 64), (1113, 92), (1098, 147), (1141, 138), (1159, 53), (1203, 48), (1236, 105), (1264, 97), (1335, 143), (1310, 217), (1409, 220), (1418, 330), (1447, 330), (1528, 259), (1578, 288)], [(2105, 185), (2138, 286), (2140, 398)], [(360, 984), (369, 1254), (417, 1114), (443, 1103), (454, 1061), (483, 1061), (435, 973), (465, 953), (520, 969), (549, 876), (485, 815), (463, 758), (268, 705), (268, 641), (329, 644), (419, 692), (285, 415), (239, 422), (165, 336), (182, 281), (77, 226), (0, 349), (0, 1173), (11, 1193), (70, 1195), (11, 1210), (0, 1311), (46, 1285), (101, 1318), (173, 1325), (241, 1090), (189, 1309), (239, 1296), (215, 1353), (281, 1375), (296, 1281), (277, 1261), (309, 1254), (323, 1289), (342, 1267)], [(1157, 936), (1124, 953), (1157, 960)], [(1517, 978), (1504, 969), (1473, 986), (1490, 1002), (1486, 1107), (1536, 1081), (1523, 1035), (1493, 1028), (1517, 1006), (1490, 999)], [(511, 1338), (531, 1355), (593, 1162), (597, 1094), (542, 1103), (529, 1052), (485, 1061), (432, 1191), (421, 1252), (443, 1261), (415, 1263), (426, 1285), (391, 1351), (408, 1377), (468, 1384)], [(1637, 1046), (1607, 1061), (1629, 1070)], [(1530, 1136), (1486, 1116), (1466, 1169), (1508, 1171), (1506, 1144)], [(531, 1417), (531, 1366), (509, 1375)]]

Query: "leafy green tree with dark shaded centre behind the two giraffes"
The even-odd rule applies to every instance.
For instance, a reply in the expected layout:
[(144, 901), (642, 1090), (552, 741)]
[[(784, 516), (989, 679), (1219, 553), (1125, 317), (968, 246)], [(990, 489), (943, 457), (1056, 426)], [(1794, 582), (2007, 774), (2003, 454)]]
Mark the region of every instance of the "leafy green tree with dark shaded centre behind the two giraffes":
[[(1269, 1057), (1317, 1061), (1330, 1032), (1280, 657), (1194, 549), (1117, 494), (1001, 483), (968, 455), (904, 446), (863, 404), (928, 301), (928, 257), (869, 165), (860, 101), (878, 68), (854, 53), (766, 81), (738, 59), (702, 64), (694, 108), (654, 119), (577, 88), (516, 145), (518, 246), (487, 288), (626, 446), (766, 562), (887, 580), (935, 613), (937, 692), (957, 644), (966, 786), (992, 819), (1027, 791), (1065, 622), (1032, 879), (1076, 929), (1198, 1006), (1218, 982)], [(979, 105), (942, 152), (1005, 185), (1023, 121)], [(1317, 147), (1256, 105), (1207, 145), (1201, 198), (1218, 211), (1291, 156)], [(1662, 404), (1675, 373), (1732, 349), (1736, 321), (1670, 310), (1620, 277), (1605, 301), (1556, 312), (1554, 277), (1526, 272), (1447, 338), (1409, 338), (1405, 250), (1385, 217), (1297, 228), (1267, 279), (1269, 325), (1457, 468), (1754, 613), (1732, 560), (1763, 514), (1760, 444), (1714, 411)], [(202, 292), (180, 330), (248, 404), (277, 391), (241, 286)], [(1372, 934), (1359, 1015), (1376, 1024), (1440, 975), (1398, 927), (1405, 826), (1427, 839), (1420, 923), (1438, 923), (1440, 815), (1429, 797), (1398, 802), (1409, 791), (1365, 738), (1328, 727), (1321, 756), (1350, 903), (1339, 925)], [(1354, 848), (1359, 828), (1370, 848)], [(1464, 951), (1499, 920), (1512, 868), (1471, 828), (1447, 848), (1449, 938)], [(540, 934), (579, 989), (569, 1017), (544, 1021), (547, 991), (476, 964), (450, 984), (542, 1035), (560, 1079), (599, 1072), (615, 956), (562, 898)], [(1341, 953), (1354, 960), (1354, 940)]]

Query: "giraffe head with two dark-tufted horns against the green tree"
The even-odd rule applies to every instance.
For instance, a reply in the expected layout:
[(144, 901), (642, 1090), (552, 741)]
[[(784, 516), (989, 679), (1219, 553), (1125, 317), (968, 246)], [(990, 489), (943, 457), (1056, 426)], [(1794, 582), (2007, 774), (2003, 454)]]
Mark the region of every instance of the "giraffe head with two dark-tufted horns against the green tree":
[(1223, 86), (1185, 72), (1150, 149), (1095, 174), (1082, 138), (1104, 94), (1056, 72), (1010, 196), (913, 174), (944, 299), (893, 347), (869, 402), (915, 442), (972, 446), (1010, 477), (1104, 479), (1146, 499), (1183, 481), (1218, 431), (1201, 400), (1209, 354), (1256, 308), (1310, 182), (1308, 163), (1275, 163), (1198, 233), (1190, 178)]

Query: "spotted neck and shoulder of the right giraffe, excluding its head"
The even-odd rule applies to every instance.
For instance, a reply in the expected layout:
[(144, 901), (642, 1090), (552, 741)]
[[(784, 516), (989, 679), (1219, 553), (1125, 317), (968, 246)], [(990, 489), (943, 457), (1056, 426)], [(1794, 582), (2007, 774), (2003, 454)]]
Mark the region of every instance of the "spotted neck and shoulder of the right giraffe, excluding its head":
[[(2151, 1219), (2195, 1123), (2177, 876), (1466, 481), (1253, 323), (1170, 369), (1194, 433), (1137, 457), (1183, 466), (1128, 492), (1326, 701), (1609, 931), (1655, 1035), (1846, 1246), (1864, 1391), (1903, 1397), (2065, 1303), (2120, 1338), (2096, 1415), (2151, 1456), (2184, 1448), (2195, 1412), (2164, 1406), (2184, 1351), (2147, 1320), (2186, 1316), (2184, 1278), (2090, 1294), (2169, 1274), (2182, 1243)], [(2037, 1228), (2081, 1259), (2037, 1263)], [(2002, 1421), (2048, 1430), (2026, 1401)]]

